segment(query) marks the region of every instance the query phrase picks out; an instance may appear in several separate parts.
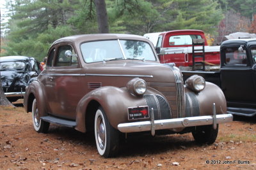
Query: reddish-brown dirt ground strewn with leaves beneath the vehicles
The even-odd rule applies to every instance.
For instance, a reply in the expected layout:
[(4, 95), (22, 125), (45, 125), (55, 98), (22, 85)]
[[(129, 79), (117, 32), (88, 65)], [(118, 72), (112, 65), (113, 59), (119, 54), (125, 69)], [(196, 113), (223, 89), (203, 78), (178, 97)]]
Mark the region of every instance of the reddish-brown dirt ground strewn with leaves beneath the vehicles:
[(129, 135), (118, 157), (104, 159), (93, 134), (52, 124), (39, 134), (16, 106), (0, 106), (0, 169), (256, 169), (256, 118), (221, 124), (213, 145), (196, 145), (190, 133)]

